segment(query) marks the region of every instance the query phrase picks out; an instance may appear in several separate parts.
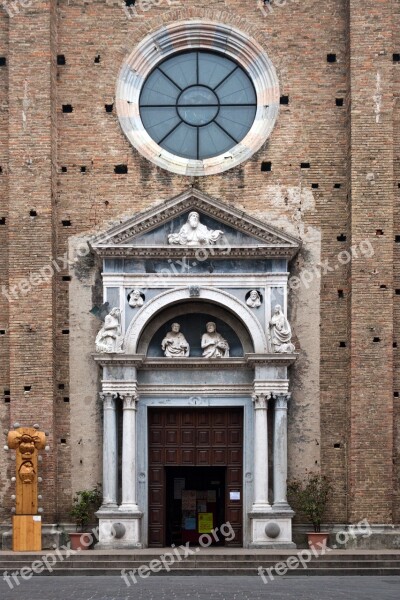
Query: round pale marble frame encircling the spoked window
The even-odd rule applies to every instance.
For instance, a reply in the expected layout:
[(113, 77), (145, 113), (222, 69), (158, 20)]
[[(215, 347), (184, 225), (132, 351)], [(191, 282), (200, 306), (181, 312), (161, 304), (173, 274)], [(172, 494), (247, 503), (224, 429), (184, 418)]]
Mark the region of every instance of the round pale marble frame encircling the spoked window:
[[(231, 150), (203, 160), (175, 156), (147, 133), (140, 118), (143, 84), (161, 61), (186, 50), (214, 51), (235, 60), (250, 76), (257, 94), (257, 110), (250, 131)], [(180, 21), (147, 35), (124, 60), (116, 88), (119, 122), (129, 142), (153, 164), (178, 175), (222, 173), (248, 160), (270, 136), (279, 112), (279, 82), (265, 50), (235, 27), (207, 20)]]

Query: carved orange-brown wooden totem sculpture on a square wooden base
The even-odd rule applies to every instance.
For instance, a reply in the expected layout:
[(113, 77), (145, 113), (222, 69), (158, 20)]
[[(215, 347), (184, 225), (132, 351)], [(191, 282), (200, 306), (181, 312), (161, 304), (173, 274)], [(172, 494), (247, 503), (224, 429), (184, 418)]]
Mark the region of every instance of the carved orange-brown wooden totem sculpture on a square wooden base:
[(33, 427), (9, 431), (7, 445), (16, 451), (16, 506), (13, 518), (13, 550), (41, 550), (38, 513), (38, 451), (46, 447), (46, 435)]

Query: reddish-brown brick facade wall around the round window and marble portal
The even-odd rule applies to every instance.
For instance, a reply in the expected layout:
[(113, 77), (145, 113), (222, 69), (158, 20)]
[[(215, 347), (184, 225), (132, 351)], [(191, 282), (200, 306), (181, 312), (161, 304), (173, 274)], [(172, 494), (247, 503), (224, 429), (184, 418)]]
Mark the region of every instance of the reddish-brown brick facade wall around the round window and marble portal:
[[(70, 443), (69, 271), (60, 257), (70, 236), (104, 230), (192, 184), (282, 228), (284, 218), (303, 240), (318, 232), (321, 260), (334, 267), (320, 280), (320, 437), (312, 443), (321, 460), (302, 467), (321, 468), (335, 482), (328, 521), (398, 522), (397, 4), (288, 0), (262, 7), (256, 0), (209, 0), (199, 8), (193, 0), (177, 6), (164, 0), (146, 12), (138, 3), (136, 15), (117, 0), (23, 4), (15, 0), (11, 9), (9, 2), (12, 16), (0, 14), (6, 59), (0, 66), (0, 285), (12, 290), (52, 260), (60, 271), (11, 302), (0, 295), (0, 419), (4, 430), (16, 421), (38, 422), (50, 433), (51, 452), (41, 467), (45, 521), (68, 520), (71, 456), (78, 452)], [(254, 37), (287, 100), (250, 160), (188, 179), (132, 149), (114, 100), (120, 65), (135, 45), (163, 23), (194, 17)], [(57, 64), (60, 55), (65, 64)], [(63, 112), (67, 105), (72, 112)], [(272, 163), (271, 171), (261, 170), (263, 161)], [(114, 173), (121, 164), (127, 174)], [(372, 257), (338, 260), (364, 240)], [(304, 243), (293, 273), (301, 272), (307, 253)], [(291, 310), (298, 310), (296, 295)], [(307, 377), (311, 358), (299, 350)], [(292, 391), (295, 403), (295, 386)], [(5, 524), (10, 476), (11, 461), (1, 453)]]

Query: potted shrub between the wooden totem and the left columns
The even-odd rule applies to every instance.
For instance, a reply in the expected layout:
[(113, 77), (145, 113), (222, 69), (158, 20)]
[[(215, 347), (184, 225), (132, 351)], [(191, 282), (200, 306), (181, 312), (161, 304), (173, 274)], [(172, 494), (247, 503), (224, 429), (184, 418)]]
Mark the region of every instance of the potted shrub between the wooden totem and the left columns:
[(90, 523), (95, 522), (94, 513), (100, 508), (101, 502), (102, 494), (99, 484), (91, 490), (76, 492), (70, 511), (70, 515), (76, 523), (76, 533), (69, 534), (73, 550), (87, 550), (93, 542), (93, 534), (85, 529)]

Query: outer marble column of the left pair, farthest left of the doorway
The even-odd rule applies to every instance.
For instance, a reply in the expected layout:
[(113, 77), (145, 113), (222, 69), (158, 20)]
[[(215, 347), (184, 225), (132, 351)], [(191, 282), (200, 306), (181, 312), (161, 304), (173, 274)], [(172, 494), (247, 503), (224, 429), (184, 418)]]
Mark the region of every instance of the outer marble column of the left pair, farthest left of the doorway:
[(102, 509), (117, 508), (118, 437), (116, 394), (100, 393), (103, 402), (103, 505)]

